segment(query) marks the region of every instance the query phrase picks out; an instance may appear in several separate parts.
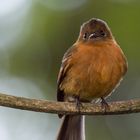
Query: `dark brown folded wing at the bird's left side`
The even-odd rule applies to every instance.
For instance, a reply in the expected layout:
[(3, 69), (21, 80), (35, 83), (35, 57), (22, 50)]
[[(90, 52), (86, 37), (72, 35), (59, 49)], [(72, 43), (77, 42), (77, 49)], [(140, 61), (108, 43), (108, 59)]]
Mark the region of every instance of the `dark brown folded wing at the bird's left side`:
[(76, 52), (76, 50), (77, 50), (76, 47), (72, 46), (71, 48), (67, 50), (67, 52), (64, 54), (64, 57), (62, 59), (62, 64), (60, 67), (58, 80), (57, 80), (57, 101), (64, 101), (64, 91), (60, 89), (60, 86), (61, 86), (62, 81), (66, 77), (67, 72), (72, 66), (71, 58), (73, 54)]

